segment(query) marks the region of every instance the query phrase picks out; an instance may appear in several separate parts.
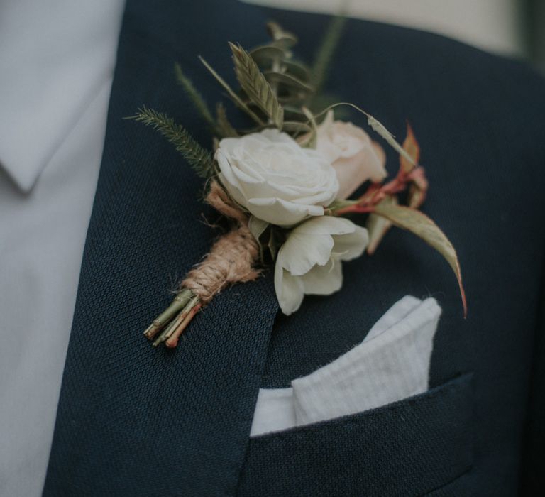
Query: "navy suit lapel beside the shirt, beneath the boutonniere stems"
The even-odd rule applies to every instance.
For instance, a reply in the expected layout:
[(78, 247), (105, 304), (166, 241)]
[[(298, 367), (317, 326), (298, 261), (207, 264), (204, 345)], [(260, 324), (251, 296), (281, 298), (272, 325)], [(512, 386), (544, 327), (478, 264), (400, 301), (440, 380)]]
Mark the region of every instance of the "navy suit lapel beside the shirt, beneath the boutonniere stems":
[[(164, 109), (209, 145), (172, 64), (181, 60), (209, 102), (221, 97), (197, 55), (226, 72), (226, 40), (252, 45), (263, 32), (257, 9), (221, 9), (128, 2), (45, 495), (236, 488), (277, 311), (272, 283), (227, 290), (177, 350), (150, 348), (143, 329), (217, 231), (202, 222), (202, 182), (187, 164), (155, 133), (123, 121), (142, 104)], [(200, 35), (204, 28), (213, 40)]]

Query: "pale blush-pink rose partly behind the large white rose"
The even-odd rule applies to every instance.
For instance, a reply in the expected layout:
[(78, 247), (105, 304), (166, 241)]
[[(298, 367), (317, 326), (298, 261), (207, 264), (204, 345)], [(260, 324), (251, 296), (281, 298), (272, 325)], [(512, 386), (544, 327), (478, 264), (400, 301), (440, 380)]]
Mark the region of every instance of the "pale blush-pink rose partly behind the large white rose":
[(333, 120), (333, 111), (318, 126), (316, 150), (329, 158), (340, 185), (337, 198), (346, 199), (365, 181), (382, 181), (386, 155), (363, 129)]

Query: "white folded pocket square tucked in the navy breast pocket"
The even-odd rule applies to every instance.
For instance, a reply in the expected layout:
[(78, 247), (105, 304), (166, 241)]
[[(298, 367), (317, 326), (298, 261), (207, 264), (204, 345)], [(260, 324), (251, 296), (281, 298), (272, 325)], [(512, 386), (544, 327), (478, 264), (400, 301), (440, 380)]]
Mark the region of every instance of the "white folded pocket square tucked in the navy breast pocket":
[(262, 388), (251, 437), (360, 413), (428, 389), (429, 362), (441, 307), (406, 296), (361, 344), (291, 388)]

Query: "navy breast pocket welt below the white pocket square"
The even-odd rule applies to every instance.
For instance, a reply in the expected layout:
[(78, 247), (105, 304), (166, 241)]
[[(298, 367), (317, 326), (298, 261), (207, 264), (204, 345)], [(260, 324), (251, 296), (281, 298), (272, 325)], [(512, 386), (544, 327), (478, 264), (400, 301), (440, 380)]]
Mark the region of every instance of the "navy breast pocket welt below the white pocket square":
[[(250, 439), (242, 496), (418, 496), (473, 464), (470, 373), (382, 408)], [(459, 495), (463, 495), (463, 492)]]

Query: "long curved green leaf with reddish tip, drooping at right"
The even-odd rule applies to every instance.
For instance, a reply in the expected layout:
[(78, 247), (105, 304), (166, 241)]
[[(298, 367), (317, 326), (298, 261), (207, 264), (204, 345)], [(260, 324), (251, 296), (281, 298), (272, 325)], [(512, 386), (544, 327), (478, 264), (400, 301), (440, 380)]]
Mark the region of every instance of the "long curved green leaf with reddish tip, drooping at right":
[(466, 317), (468, 313), (468, 305), (466, 301), (466, 292), (462, 285), (462, 273), (460, 269), (460, 263), (456, 250), (448, 240), (446, 235), (439, 229), (426, 214), (411, 209), (410, 207), (402, 207), (395, 204), (378, 204), (375, 207), (375, 214), (385, 217), (390, 222), (399, 226), (402, 229), (407, 229), (415, 235), (422, 238), (426, 243), (434, 247), (436, 251), (439, 251), (441, 255), (446, 259), (452, 271), (456, 275), (458, 280), (458, 286), (460, 287), (460, 295), (462, 298), (463, 315)]

